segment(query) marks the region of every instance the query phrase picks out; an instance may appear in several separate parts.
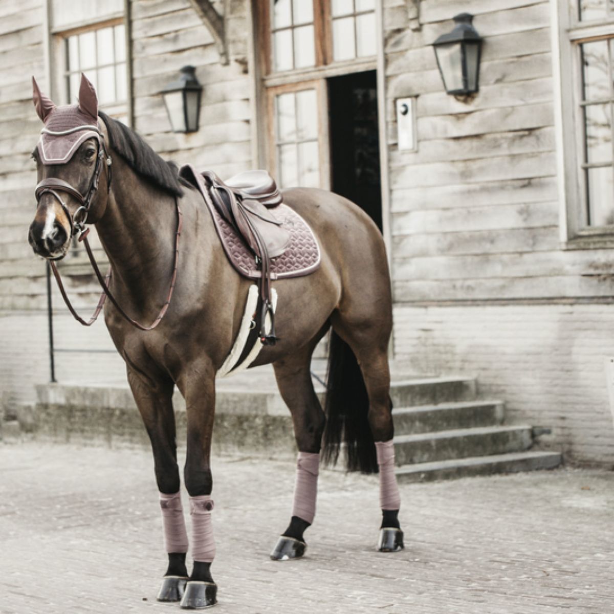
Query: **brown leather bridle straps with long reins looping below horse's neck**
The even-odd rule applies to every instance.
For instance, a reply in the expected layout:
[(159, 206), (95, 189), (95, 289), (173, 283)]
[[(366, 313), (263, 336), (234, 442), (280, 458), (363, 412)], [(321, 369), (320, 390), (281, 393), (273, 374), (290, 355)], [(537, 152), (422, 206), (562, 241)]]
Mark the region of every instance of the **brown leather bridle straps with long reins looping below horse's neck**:
[[(41, 196), (44, 193), (49, 192), (60, 203), (60, 206), (64, 210), (66, 217), (68, 217), (68, 221), (71, 226), (71, 238), (73, 236), (77, 236), (78, 233), (79, 236), (77, 237), (77, 241), (79, 241), (79, 243), (84, 244), (85, 251), (87, 252), (88, 258), (90, 259), (91, 268), (93, 268), (94, 274), (96, 275), (96, 279), (98, 279), (98, 283), (103, 289), (103, 292), (101, 293), (100, 298), (98, 300), (98, 305), (96, 306), (94, 313), (91, 315), (90, 319), (87, 322), (79, 316), (76, 309), (72, 306), (72, 303), (68, 298), (68, 294), (66, 293), (66, 289), (64, 289), (64, 284), (62, 283), (60, 272), (58, 271), (55, 262), (50, 261), (49, 265), (51, 266), (51, 270), (53, 271), (53, 276), (55, 277), (55, 280), (58, 284), (58, 289), (60, 289), (60, 293), (62, 295), (62, 298), (64, 299), (64, 303), (66, 303), (68, 310), (71, 312), (72, 316), (74, 316), (76, 321), (79, 322), (79, 324), (82, 324), (84, 326), (91, 326), (94, 322), (96, 322), (96, 319), (98, 319), (98, 316), (100, 315), (100, 312), (102, 311), (104, 303), (108, 297), (111, 303), (113, 303), (113, 305), (117, 309), (117, 311), (119, 311), (123, 319), (125, 319), (131, 325), (136, 328), (139, 328), (139, 330), (153, 330), (153, 328), (157, 327), (157, 325), (160, 324), (163, 317), (166, 315), (166, 311), (168, 310), (169, 305), (171, 305), (171, 298), (173, 298), (175, 282), (177, 281), (177, 265), (179, 264), (179, 237), (181, 236), (181, 229), (183, 226), (183, 215), (181, 212), (181, 208), (179, 207), (179, 202), (177, 201), (177, 196), (175, 196), (175, 208), (177, 210), (177, 229), (175, 232), (175, 254), (173, 262), (173, 274), (171, 275), (171, 283), (168, 289), (166, 301), (162, 305), (160, 313), (158, 313), (158, 315), (155, 317), (155, 320), (152, 322), (152, 324), (146, 326), (144, 324), (141, 324), (140, 322), (137, 322), (132, 317), (128, 316), (128, 314), (126, 314), (126, 312), (119, 305), (117, 299), (113, 296), (111, 290), (109, 289), (109, 286), (111, 286), (112, 270), (111, 268), (109, 268), (109, 273), (107, 273), (106, 277), (103, 278), (103, 274), (100, 272), (98, 264), (96, 264), (96, 259), (91, 250), (90, 242), (87, 240), (87, 235), (90, 233), (90, 230), (89, 228), (85, 228), (85, 223), (87, 222), (87, 216), (90, 212), (91, 200), (96, 193), (96, 190), (98, 190), (98, 182), (103, 167), (103, 160), (105, 158), (107, 164), (107, 193), (109, 193), (111, 191), (111, 156), (107, 155), (103, 141), (99, 141), (98, 156), (96, 157), (96, 166), (94, 168), (94, 173), (91, 178), (90, 187), (88, 188), (88, 192), (85, 196), (83, 196), (82, 193), (79, 192), (79, 190), (72, 187), (72, 185), (68, 182), (63, 181), (62, 179), (56, 179), (55, 177), (43, 179), (36, 186), (36, 190), (34, 191), (37, 202), (41, 200)], [(77, 211), (75, 211), (74, 215), (71, 215), (68, 206), (66, 205), (66, 203), (64, 203), (61, 196), (58, 194), (58, 191), (66, 192), (71, 196), (74, 196), (74, 198), (79, 201), (80, 206)], [(77, 214), (79, 214), (79, 217), (77, 217)]]

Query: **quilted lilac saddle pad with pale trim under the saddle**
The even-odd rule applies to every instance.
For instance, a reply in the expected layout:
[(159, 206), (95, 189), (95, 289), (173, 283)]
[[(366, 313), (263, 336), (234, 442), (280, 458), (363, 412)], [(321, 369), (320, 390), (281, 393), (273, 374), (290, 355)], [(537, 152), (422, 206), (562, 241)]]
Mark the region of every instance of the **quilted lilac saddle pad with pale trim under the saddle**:
[[(191, 166), (184, 166), (181, 169), (181, 176), (200, 190), (231, 265), (244, 277), (259, 279), (260, 265), (254, 257), (254, 252), (247, 247), (247, 243), (238, 235), (235, 228), (217, 211), (203, 176), (195, 172)], [(284, 253), (271, 258), (271, 279), (301, 277), (317, 270), (321, 260), (320, 249), (316, 236), (307, 222), (283, 203), (268, 209), (268, 212), (282, 223), (282, 228), (285, 228), (290, 235)]]

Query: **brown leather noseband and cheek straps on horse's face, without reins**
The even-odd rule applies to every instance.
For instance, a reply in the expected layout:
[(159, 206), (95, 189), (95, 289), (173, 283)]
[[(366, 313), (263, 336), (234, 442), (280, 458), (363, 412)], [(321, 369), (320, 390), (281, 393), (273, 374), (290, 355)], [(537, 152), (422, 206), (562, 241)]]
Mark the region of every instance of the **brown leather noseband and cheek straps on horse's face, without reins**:
[[(88, 126), (88, 130), (93, 130), (91, 126)], [(94, 198), (96, 190), (98, 190), (98, 183), (100, 181), (100, 174), (103, 171), (103, 166), (107, 165), (107, 194), (111, 192), (111, 156), (107, 154), (106, 147), (104, 147), (104, 141), (102, 138), (98, 141), (98, 155), (96, 156), (96, 165), (94, 166), (94, 173), (91, 176), (90, 187), (88, 187), (85, 196), (72, 187), (68, 181), (63, 179), (57, 179), (56, 177), (48, 177), (43, 179), (34, 189), (34, 195), (36, 196), (36, 202), (41, 202), (41, 197), (45, 193), (51, 194), (55, 200), (60, 203), (61, 208), (64, 210), (68, 222), (71, 225), (71, 238), (76, 236), (77, 233), (82, 235), (85, 231), (85, 223), (87, 222), (87, 216), (90, 213), (91, 201)], [(66, 192), (79, 201), (79, 209), (71, 215), (68, 209), (68, 205), (64, 202), (62, 197), (58, 194), (60, 192)]]

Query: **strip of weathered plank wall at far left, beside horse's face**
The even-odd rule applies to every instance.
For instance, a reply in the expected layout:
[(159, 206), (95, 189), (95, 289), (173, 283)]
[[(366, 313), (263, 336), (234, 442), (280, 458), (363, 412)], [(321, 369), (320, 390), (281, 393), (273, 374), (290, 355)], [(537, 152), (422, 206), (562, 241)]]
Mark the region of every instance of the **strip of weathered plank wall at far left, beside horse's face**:
[(36, 185), (30, 153), (41, 130), (31, 76), (49, 87), (43, 19), (43, 0), (0, 0), (0, 312), (45, 304), (45, 267), (27, 239)]

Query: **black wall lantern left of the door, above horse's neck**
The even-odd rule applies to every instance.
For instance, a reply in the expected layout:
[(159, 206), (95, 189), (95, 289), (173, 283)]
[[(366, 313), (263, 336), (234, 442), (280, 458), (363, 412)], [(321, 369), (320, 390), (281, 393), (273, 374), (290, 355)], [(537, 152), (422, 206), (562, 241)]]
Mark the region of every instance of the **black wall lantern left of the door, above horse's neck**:
[(169, 83), (162, 90), (173, 132), (198, 130), (200, 95), (203, 86), (198, 83), (195, 70), (193, 66), (184, 66), (179, 70), (179, 79)]

